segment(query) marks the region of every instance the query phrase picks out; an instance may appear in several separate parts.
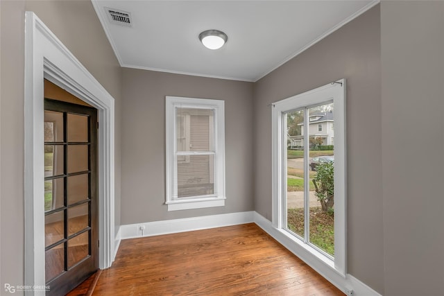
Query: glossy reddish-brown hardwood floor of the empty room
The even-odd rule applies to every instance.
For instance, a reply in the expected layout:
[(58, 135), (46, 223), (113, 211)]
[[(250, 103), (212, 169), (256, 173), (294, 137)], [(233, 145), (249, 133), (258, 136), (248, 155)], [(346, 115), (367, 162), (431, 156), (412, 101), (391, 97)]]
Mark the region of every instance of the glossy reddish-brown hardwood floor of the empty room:
[(121, 241), (92, 295), (344, 294), (250, 223)]

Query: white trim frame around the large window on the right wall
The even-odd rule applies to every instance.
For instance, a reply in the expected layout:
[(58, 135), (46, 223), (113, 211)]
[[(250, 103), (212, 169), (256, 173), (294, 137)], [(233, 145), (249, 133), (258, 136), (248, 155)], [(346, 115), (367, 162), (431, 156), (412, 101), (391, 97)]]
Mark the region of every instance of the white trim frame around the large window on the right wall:
[[(334, 146), (334, 259), (325, 256), (311, 245), (304, 243), (296, 236), (292, 236), (284, 229), (284, 214), (282, 213), (284, 194), (283, 159), (287, 150), (284, 148), (284, 112), (296, 110), (332, 100), (334, 103), (335, 146)], [(345, 79), (337, 80), (309, 92), (291, 96), (282, 101), (273, 103), (272, 108), (272, 225), (276, 230), (289, 237), (297, 249), (305, 250), (310, 260), (333, 268), (341, 276), (346, 271), (346, 145), (345, 145)], [(302, 251), (301, 251), (302, 252)]]

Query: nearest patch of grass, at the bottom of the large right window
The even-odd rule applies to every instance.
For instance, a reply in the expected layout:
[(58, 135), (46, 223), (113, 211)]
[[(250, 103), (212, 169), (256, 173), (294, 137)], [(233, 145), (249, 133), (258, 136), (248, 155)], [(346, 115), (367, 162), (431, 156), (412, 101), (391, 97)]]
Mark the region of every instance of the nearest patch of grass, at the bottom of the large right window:
[[(288, 209), (288, 228), (304, 236), (304, 209)], [(334, 217), (321, 211), (321, 207), (310, 208), (310, 243), (334, 256)]]

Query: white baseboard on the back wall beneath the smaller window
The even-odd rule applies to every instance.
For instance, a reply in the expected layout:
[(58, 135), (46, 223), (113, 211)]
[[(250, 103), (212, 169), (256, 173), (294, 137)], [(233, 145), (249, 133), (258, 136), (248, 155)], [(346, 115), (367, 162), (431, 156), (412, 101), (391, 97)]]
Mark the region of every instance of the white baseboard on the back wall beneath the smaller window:
[[(191, 232), (254, 222), (254, 211), (121, 225), (121, 239)], [(140, 229), (144, 227), (144, 230)], [(143, 234), (142, 234), (143, 233)]]

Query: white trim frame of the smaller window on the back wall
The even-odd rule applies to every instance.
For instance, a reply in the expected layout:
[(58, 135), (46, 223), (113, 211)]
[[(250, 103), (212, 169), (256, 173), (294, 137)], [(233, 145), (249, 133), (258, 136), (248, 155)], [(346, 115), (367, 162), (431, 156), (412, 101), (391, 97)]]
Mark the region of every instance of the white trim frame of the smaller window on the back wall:
[[(214, 110), (214, 195), (174, 198), (173, 180), (176, 177), (176, 107)], [(165, 98), (166, 134), (166, 198), (168, 211), (200, 209), (225, 206), (225, 102), (207, 98), (186, 98), (166, 96)], [(199, 152), (194, 154), (199, 155)]]

